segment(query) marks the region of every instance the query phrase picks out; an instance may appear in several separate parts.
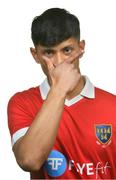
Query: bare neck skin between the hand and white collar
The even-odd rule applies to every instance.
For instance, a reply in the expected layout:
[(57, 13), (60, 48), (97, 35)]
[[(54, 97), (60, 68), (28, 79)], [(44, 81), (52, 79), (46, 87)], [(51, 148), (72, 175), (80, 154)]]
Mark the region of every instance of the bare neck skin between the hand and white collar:
[(82, 91), (82, 89), (84, 88), (85, 85), (85, 78), (84, 76), (81, 76), (77, 86), (67, 94), (66, 99), (70, 100), (72, 98), (74, 98), (75, 96), (79, 95)]

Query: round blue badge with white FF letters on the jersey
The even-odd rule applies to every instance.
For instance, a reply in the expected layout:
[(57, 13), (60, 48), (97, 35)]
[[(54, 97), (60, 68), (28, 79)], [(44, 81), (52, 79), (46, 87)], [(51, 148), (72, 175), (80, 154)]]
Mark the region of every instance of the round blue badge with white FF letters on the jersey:
[(61, 176), (67, 168), (65, 156), (59, 151), (53, 150), (44, 164), (45, 171), (52, 177)]

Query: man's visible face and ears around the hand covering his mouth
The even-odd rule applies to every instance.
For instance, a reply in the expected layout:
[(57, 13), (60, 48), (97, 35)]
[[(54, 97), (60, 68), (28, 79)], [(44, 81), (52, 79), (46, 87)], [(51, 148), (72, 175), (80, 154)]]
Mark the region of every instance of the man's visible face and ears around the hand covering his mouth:
[[(70, 58), (70, 56), (73, 56), (73, 54), (84, 50), (84, 47), (84, 40), (78, 42), (75, 38), (69, 38), (68, 40), (53, 47), (38, 45), (36, 48), (30, 48), (30, 50), (36, 62), (41, 64), (44, 73), (49, 76), (48, 69), (44, 61), (45, 57), (49, 58), (54, 66), (58, 66), (58, 64), (66, 61)], [(73, 63), (75, 64), (75, 67), (79, 69), (79, 58), (75, 59)]]

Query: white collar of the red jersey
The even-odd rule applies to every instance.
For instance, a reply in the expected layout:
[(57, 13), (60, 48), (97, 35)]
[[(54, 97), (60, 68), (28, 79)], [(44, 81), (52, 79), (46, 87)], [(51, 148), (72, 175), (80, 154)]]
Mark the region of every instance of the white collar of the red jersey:
[[(66, 99), (65, 105), (71, 106), (84, 97), (89, 98), (89, 99), (95, 98), (95, 88), (94, 88), (93, 84), (90, 82), (90, 80), (87, 76), (84, 76), (84, 77), (85, 77), (85, 86), (82, 89), (81, 93), (79, 95), (77, 95), (76, 97), (70, 99), (70, 100)], [(39, 86), (39, 89), (40, 89), (42, 99), (45, 100), (47, 97), (47, 94), (50, 90), (50, 86), (48, 84), (47, 78)]]

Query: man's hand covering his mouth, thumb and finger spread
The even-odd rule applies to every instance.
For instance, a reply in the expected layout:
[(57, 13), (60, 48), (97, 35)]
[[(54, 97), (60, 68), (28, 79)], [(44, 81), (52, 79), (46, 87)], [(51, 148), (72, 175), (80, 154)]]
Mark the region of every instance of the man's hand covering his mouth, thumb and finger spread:
[(43, 57), (48, 67), (52, 87), (59, 88), (59, 90), (65, 94), (75, 88), (80, 80), (81, 74), (78, 72), (78, 69), (73, 62), (75, 59), (81, 57), (83, 53), (84, 51), (73, 54), (70, 58), (58, 64), (56, 67), (49, 58)]

